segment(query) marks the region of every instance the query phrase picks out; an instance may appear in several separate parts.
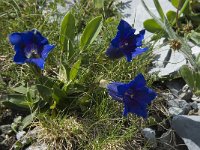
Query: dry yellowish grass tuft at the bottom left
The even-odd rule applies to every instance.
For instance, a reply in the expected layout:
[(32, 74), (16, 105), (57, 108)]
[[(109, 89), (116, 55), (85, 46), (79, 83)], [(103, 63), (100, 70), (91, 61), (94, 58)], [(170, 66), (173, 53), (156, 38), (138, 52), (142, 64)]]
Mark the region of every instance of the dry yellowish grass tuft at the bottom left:
[(74, 117), (42, 116), (33, 126), (40, 129), (37, 142), (45, 143), (49, 149), (72, 150), (81, 147), (86, 139), (84, 128)]

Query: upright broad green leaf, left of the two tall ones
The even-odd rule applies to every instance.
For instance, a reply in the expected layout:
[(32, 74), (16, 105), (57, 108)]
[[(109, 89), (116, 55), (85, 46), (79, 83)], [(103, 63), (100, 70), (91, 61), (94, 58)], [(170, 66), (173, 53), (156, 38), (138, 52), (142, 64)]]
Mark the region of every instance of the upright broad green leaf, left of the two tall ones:
[(74, 37), (75, 37), (75, 18), (70, 12), (68, 12), (64, 16), (61, 22), (60, 42), (62, 45), (65, 45), (67, 42), (66, 39), (73, 41)]

